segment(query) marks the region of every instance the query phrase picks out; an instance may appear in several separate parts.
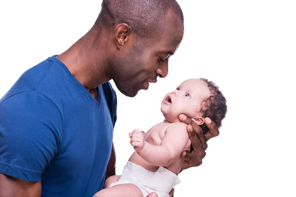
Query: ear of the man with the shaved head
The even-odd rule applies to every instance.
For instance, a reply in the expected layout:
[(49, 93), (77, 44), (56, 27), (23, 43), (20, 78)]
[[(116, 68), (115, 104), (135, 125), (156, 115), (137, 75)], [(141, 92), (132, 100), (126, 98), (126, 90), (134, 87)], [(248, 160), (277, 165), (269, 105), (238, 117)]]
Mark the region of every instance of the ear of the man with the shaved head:
[(113, 33), (113, 39), (119, 50), (122, 48), (124, 44), (126, 44), (130, 40), (131, 33), (132, 28), (125, 23), (119, 24), (116, 27)]

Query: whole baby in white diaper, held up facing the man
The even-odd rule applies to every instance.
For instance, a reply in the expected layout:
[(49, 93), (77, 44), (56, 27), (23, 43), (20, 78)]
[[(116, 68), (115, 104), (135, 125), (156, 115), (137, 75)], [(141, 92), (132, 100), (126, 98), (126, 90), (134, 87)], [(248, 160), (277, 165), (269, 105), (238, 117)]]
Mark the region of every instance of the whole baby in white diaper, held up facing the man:
[(178, 174), (184, 163), (181, 154), (189, 152), (191, 147), (187, 125), (178, 116), (187, 115), (206, 132), (209, 129), (204, 118), (211, 118), (220, 128), (226, 111), (226, 100), (213, 82), (204, 78), (184, 81), (161, 103), (164, 122), (145, 134), (139, 130), (129, 133), (135, 152), (117, 181), (109, 177), (107, 188), (94, 197), (146, 197), (151, 192), (158, 197), (169, 197), (169, 192), (180, 182)]

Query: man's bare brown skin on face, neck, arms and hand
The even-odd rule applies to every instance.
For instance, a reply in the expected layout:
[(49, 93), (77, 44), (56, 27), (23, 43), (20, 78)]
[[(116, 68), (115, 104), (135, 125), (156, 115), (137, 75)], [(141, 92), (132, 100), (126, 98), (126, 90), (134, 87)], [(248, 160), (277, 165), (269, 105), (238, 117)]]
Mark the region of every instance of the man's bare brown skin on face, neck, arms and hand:
[[(57, 58), (96, 99), (96, 87), (113, 79), (120, 92), (129, 97), (137, 95), (145, 83), (156, 82), (168, 74), (168, 59), (175, 53), (183, 38), (183, 22), (168, 12), (163, 20), (159, 36), (147, 38), (135, 47), (137, 35), (127, 24), (117, 24), (109, 29), (92, 28), (67, 51)], [(145, 47), (141, 48), (141, 45)], [(182, 169), (198, 166), (205, 157), (206, 141), (219, 134), (215, 124), (209, 124), (205, 135), (189, 119), (186, 124), (193, 151), (186, 153)], [(190, 131), (193, 128), (194, 132)], [(115, 151), (112, 148), (107, 176), (115, 174)], [(174, 190), (170, 193), (173, 196)], [(151, 197), (152, 194), (148, 196)], [(40, 197), (41, 182), (30, 182), (0, 174), (0, 197)]]

